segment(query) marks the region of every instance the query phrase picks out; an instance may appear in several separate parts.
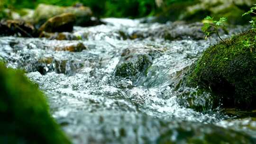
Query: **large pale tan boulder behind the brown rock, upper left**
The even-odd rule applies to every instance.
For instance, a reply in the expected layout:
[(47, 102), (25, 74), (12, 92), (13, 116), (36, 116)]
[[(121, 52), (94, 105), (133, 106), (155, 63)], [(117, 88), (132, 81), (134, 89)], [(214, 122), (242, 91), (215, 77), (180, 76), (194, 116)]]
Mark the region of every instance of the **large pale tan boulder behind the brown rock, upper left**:
[(39, 4), (34, 13), (34, 23), (41, 25), (47, 19), (61, 15), (63, 13), (72, 13), (76, 17), (75, 25), (83, 26), (91, 22), (92, 12), (88, 7), (59, 7), (53, 5)]

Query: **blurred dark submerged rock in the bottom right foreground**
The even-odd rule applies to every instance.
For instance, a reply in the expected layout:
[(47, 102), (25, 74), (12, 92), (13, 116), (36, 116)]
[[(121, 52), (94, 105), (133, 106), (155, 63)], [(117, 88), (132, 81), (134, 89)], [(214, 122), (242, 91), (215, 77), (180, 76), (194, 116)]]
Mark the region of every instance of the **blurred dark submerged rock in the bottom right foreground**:
[[(165, 124), (164, 124), (165, 125)], [(255, 138), (231, 129), (202, 125), (199, 123), (181, 122), (179, 126), (165, 125), (157, 140), (159, 144), (254, 144)], [(170, 129), (168, 129), (169, 127)]]

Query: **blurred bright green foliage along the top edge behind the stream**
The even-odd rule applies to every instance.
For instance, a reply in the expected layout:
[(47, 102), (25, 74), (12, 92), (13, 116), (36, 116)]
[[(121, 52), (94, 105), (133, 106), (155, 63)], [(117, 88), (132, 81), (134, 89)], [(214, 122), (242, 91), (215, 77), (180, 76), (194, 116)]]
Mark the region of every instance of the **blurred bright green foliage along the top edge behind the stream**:
[[(92, 9), (98, 17), (129, 17), (139, 18), (154, 15), (158, 9), (155, 0), (1, 0), (4, 8), (29, 8), (34, 9), (39, 3), (53, 4), (59, 6), (71, 6), (82, 3)], [(174, 2), (194, 0), (164, 0), (164, 5)]]

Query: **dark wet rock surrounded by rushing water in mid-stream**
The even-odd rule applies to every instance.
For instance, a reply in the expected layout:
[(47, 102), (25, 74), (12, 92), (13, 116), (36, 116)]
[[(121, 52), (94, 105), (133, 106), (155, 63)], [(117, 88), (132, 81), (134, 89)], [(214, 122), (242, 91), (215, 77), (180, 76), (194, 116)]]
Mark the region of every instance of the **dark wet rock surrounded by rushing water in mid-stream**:
[(128, 54), (124, 52), (115, 68), (115, 75), (134, 79), (139, 74), (144, 74), (152, 64), (152, 57), (147, 54)]

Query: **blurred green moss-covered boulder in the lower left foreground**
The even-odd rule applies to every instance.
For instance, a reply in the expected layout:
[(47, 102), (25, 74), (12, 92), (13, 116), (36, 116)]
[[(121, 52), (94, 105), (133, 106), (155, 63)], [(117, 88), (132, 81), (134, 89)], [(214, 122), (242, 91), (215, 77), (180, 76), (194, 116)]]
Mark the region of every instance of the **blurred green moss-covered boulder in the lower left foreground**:
[(0, 80), (0, 144), (70, 144), (23, 72), (0, 63)]

